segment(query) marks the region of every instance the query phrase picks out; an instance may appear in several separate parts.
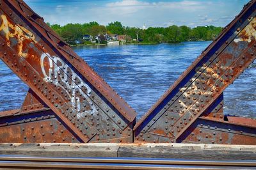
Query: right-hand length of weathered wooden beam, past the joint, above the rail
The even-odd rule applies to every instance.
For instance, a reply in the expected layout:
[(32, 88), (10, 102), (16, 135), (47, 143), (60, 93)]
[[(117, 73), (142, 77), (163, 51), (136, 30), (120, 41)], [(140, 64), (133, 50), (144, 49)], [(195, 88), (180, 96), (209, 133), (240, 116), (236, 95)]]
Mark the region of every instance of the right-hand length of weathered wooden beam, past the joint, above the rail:
[(173, 148), (159, 146), (127, 147), (120, 146), (118, 157), (143, 157), (143, 158), (185, 158), (185, 159), (210, 159), (210, 160), (256, 160), (256, 151), (250, 150), (202, 150), (198, 147)]

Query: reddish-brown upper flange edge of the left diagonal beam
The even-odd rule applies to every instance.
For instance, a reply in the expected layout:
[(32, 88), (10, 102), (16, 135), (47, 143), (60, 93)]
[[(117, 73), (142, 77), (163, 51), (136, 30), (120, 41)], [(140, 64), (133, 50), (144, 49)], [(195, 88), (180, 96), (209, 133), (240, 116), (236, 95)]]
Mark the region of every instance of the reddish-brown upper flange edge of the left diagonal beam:
[[(24, 3), (24, 1), (17, 0), (17, 2), (20, 4), (20, 6), (25, 6), (30, 12), (32, 12), (34, 15), (39, 16), (37, 13), (33, 12), (31, 8)], [(24, 18), (27, 18), (27, 16), (24, 16), (24, 13), (21, 12), (20, 7), (16, 5), (15, 1), (8, 1), (8, 3), (12, 4), (13, 8), (17, 10), (17, 12), (20, 12), (20, 15), (23, 15)], [(44, 22), (44, 19), (40, 17), (41, 22)], [(33, 19), (28, 20), (32, 24)], [(40, 26), (35, 27), (33, 26), (34, 29), (38, 29)], [(42, 27), (41, 27), (42, 28)], [(47, 30), (47, 33), (49, 33), (50, 36), (54, 36), (54, 38), (60, 40), (60, 43), (55, 44), (54, 42), (50, 42), (52, 45), (52, 49), (58, 50), (61, 54), (63, 54), (63, 51), (66, 52), (65, 56), (68, 61), (70, 61), (70, 65), (74, 66), (83, 77), (86, 77), (90, 84), (97, 89), (97, 91), (103, 95), (106, 100), (110, 104), (113, 105), (113, 107), (116, 108), (127, 120), (129, 121), (134, 121), (136, 118), (136, 112), (127, 104), (127, 102), (124, 101), (122, 97), (120, 97), (114, 89), (112, 89), (109, 84), (107, 84), (104, 79), (102, 79), (83, 59), (81, 59), (75, 52), (72, 51), (72, 49), (67, 45), (67, 43), (63, 42), (52, 29), (47, 26), (47, 24), (44, 25), (44, 29)], [(70, 54), (68, 57), (67, 54)], [(64, 55), (63, 55), (64, 56)], [(70, 59), (70, 58), (76, 58), (76, 59)]]

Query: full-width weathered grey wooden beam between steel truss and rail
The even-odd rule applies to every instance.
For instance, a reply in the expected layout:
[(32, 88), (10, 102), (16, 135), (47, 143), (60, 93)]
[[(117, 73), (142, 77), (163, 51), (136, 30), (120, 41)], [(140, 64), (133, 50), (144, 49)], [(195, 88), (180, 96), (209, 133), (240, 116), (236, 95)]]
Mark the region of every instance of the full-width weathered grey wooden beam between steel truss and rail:
[(223, 144), (0, 144), (0, 155), (256, 160), (256, 146)]

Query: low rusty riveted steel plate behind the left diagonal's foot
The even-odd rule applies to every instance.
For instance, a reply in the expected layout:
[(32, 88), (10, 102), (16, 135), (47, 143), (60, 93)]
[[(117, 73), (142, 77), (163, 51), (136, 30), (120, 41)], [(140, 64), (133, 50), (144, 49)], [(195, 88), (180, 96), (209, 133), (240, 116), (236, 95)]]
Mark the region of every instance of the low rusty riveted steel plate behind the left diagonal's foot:
[(81, 142), (81, 139), (77, 140), (79, 137), (72, 134), (72, 130), (49, 109), (1, 117), (0, 136), (0, 143)]

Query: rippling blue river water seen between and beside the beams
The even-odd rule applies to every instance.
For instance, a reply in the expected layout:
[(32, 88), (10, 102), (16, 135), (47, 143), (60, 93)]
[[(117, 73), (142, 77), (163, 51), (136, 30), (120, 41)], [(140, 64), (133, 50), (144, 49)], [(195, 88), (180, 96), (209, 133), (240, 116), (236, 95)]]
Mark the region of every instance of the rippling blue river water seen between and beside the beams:
[[(140, 118), (211, 42), (86, 46), (74, 50)], [(225, 90), (225, 114), (256, 118), (256, 65)], [(22, 104), (28, 87), (0, 62), (0, 111)]]

